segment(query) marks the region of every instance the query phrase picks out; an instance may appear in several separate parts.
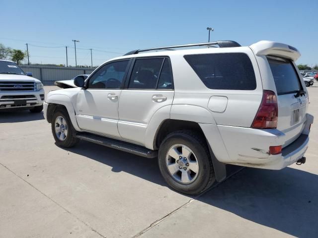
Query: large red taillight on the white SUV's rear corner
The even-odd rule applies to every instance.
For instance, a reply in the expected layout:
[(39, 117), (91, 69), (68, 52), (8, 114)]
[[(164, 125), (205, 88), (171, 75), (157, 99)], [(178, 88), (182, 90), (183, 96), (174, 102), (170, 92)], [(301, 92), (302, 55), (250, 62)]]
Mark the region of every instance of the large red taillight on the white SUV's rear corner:
[(272, 129), (277, 127), (278, 105), (273, 91), (263, 90), (262, 102), (251, 125), (252, 128)]

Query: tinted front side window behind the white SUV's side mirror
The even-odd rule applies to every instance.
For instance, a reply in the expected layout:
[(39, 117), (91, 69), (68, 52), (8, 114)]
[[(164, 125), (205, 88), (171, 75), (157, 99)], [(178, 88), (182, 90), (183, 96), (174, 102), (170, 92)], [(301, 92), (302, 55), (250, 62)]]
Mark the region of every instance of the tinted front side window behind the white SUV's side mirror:
[(116, 61), (102, 66), (89, 79), (88, 88), (119, 89), (122, 85), (129, 60)]

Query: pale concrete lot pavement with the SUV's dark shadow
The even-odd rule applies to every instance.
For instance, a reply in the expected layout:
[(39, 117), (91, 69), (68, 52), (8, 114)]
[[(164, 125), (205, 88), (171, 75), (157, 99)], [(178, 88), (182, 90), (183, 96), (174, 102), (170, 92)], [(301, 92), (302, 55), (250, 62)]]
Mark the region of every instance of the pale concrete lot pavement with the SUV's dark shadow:
[(0, 238), (317, 238), (318, 83), (308, 90), (305, 165), (245, 168), (198, 197), (167, 187), (156, 159), (65, 150), (42, 113), (0, 113)]

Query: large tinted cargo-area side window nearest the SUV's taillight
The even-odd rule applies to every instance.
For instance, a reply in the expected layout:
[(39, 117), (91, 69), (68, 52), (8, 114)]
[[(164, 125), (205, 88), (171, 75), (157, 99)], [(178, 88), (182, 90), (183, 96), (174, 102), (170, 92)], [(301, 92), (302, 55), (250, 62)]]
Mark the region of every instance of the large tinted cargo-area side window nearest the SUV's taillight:
[(255, 73), (248, 56), (243, 53), (187, 55), (202, 82), (210, 89), (254, 90)]

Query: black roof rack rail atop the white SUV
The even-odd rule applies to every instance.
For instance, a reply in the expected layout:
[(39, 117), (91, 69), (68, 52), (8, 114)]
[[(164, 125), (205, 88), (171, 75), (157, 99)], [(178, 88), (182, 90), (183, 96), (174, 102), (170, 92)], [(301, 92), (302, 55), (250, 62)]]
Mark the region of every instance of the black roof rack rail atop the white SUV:
[(171, 50), (170, 48), (194, 47), (194, 46), (213, 46), (213, 45), (218, 45), (220, 48), (240, 47), (241, 46), (236, 41), (216, 41), (216, 42), (207, 42), (207, 43), (196, 43), (196, 44), (187, 44), (187, 45), (178, 45), (178, 46), (164, 46), (164, 47), (157, 47), (157, 48), (150, 48), (150, 49), (143, 49), (143, 50), (134, 50), (134, 51), (128, 52), (124, 56), (136, 55), (138, 53), (146, 52), (146, 51)]

